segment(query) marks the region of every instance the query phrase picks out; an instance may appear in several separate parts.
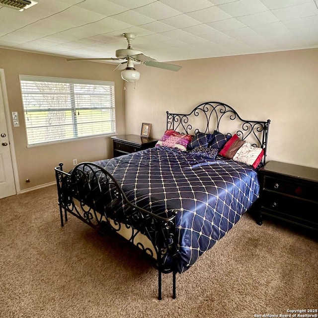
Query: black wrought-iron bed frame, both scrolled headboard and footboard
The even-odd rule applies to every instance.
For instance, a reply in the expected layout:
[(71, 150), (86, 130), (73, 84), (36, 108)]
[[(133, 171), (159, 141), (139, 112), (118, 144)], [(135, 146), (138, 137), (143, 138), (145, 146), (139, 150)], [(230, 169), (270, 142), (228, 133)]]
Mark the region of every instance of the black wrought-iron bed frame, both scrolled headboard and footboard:
[[(266, 158), (268, 129), (270, 120), (243, 120), (229, 105), (221, 102), (205, 102), (196, 106), (189, 114), (166, 112), (166, 129), (180, 133), (197, 133), (191, 120), (200, 116), (201, 132), (213, 133), (221, 129), (227, 120), (236, 120), (239, 129), (227, 132), (236, 133), (242, 140), (264, 149), (263, 163)], [(213, 131), (211, 125), (214, 125)], [(225, 133), (222, 128), (222, 133)], [(175, 241), (175, 218), (178, 210), (168, 211), (163, 218), (131, 203), (115, 178), (101, 166), (92, 162), (82, 162), (71, 172), (63, 171), (63, 163), (55, 167), (58, 204), (60, 208), (61, 226), (68, 221), (68, 213), (96, 229), (99, 233), (118, 233), (123, 228), (130, 231), (127, 241), (138, 246), (143, 254), (150, 258), (153, 266), (158, 269), (158, 299), (161, 300), (162, 273), (172, 273), (172, 297), (176, 298), (176, 266), (173, 262), (164, 265), (163, 258), (169, 250), (170, 255), (177, 251)], [(146, 236), (152, 248), (137, 241), (137, 236)]]

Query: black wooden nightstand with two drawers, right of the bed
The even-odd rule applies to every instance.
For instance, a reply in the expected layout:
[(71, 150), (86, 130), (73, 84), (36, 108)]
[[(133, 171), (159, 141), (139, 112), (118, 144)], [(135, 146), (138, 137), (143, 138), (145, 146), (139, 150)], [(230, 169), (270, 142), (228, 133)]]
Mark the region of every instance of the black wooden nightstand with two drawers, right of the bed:
[(318, 169), (269, 161), (259, 172), (258, 224), (265, 215), (318, 231)]

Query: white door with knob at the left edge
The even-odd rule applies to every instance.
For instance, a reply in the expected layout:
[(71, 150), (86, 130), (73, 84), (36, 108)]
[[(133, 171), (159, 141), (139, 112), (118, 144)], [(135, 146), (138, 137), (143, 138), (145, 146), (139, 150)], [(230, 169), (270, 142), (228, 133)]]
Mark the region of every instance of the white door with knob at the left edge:
[(0, 198), (16, 194), (0, 77)]

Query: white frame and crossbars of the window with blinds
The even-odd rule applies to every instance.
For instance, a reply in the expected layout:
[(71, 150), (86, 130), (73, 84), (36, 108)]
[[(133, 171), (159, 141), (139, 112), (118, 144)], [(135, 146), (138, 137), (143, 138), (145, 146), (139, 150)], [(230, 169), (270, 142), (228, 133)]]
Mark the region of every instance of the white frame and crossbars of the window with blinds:
[[(88, 135), (88, 136), (76, 136), (72, 138), (63, 138), (59, 140), (53, 140), (53, 141), (47, 141), (47, 142), (38, 142), (38, 143), (29, 143), (28, 140), (28, 132), (27, 132), (27, 126), (26, 126), (26, 117), (25, 117), (25, 107), (24, 107), (24, 102), (23, 102), (23, 92), (22, 92), (22, 87), (21, 87), (21, 81), (39, 81), (39, 82), (54, 82), (54, 83), (68, 83), (68, 84), (87, 84), (87, 85), (103, 85), (103, 86), (112, 86), (112, 106), (110, 107), (103, 107), (102, 109), (110, 109), (111, 113), (111, 118), (110, 120), (112, 132), (110, 133), (102, 133), (102, 134), (95, 134), (95, 135)], [(65, 142), (73, 142), (73, 141), (78, 141), (78, 140), (83, 140), (87, 138), (98, 138), (101, 136), (113, 136), (116, 135), (116, 103), (115, 103), (115, 82), (114, 81), (105, 81), (105, 80), (92, 80), (92, 79), (70, 79), (70, 78), (54, 78), (54, 77), (43, 77), (43, 76), (29, 76), (29, 75), (19, 75), (19, 84), (20, 84), (20, 92), (21, 92), (21, 101), (22, 101), (22, 111), (23, 111), (23, 118), (24, 118), (24, 128), (25, 128), (25, 136), (26, 136), (26, 143), (27, 143), (27, 148), (31, 147), (38, 147), (38, 146), (45, 146), (45, 145), (53, 145), (53, 144), (59, 144), (59, 143), (65, 143)], [(74, 86), (73, 86), (74, 88)], [(55, 108), (54, 111), (60, 110), (60, 111), (71, 111), (72, 112), (72, 126), (73, 130), (77, 130), (77, 118), (74, 116), (74, 111), (78, 109), (76, 105), (74, 104), (75, 101), (75, 94), (73, 90), (73, 94), (70, 94), (71, 96), (71, 104), (72, 108), (70, 107), (62, 107), (62, 108)], [(73, 102), (72, 102), (73, 101)], [(43, 109), (38, 109), (38, 110), (27, 110), (27, 112), (41, 112), (43, 110), (49, 110), (50, 108), (43, 108)], [(101, 109), (100, 107), (81, 107), (80, 110), (98, 110)]]

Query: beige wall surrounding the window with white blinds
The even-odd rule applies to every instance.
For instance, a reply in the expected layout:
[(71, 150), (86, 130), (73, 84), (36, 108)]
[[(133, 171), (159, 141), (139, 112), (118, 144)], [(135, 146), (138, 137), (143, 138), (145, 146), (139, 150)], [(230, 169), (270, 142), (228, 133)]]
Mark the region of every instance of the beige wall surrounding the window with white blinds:
[[(123, 89), (120, 72), (115, 66), (96, 62), (67, 62), (65, 58), (0, 49), (0, 69), (4, 69), (10, 114), (17, 111), (20, 127), (12, 127), (20, 189), (46, 184), (55, 180), (54, 167), (65, 163), (73, 166), (73, 159), (93, 161), (112, 157), (110, 138), (80, 139), (46, 146), (27, 148), (19, 75), (58, 78), (108, 80), (115, 82), (116, 129), (124, 132)], [(26, 183), (25, 179), (30, 179)]]

